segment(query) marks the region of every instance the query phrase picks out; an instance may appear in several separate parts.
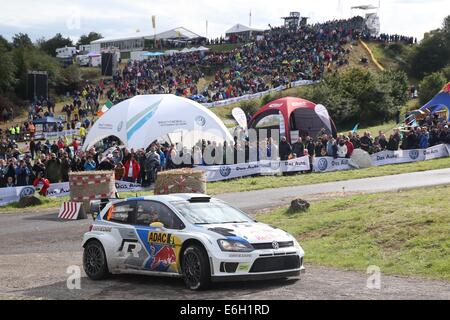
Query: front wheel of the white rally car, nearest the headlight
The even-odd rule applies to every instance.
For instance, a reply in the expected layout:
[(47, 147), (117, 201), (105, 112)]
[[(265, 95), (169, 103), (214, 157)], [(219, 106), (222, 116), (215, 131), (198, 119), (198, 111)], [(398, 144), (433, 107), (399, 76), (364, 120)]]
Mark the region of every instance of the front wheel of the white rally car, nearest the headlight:
[(190, 245), (183, 252), (182, 273), (190, 290), (205, 290), (211, 285), (211, 268), (206, 251), (199, 245)]

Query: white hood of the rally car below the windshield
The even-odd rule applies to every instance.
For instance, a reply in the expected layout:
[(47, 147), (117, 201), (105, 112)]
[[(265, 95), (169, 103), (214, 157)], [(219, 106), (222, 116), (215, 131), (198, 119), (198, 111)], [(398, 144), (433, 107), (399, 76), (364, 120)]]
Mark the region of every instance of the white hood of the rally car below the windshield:
[(208, 224), (202, 227), (218, 238), (241, 238), (250, 243), (293, 240), (293, 237), (285, 231), (259, 222)]

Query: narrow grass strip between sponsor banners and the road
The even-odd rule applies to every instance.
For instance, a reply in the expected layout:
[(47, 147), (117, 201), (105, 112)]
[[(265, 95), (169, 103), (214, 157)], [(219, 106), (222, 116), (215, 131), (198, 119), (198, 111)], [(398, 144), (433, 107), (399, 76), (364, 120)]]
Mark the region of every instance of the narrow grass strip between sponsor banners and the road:
[(209, 194), (243, 192), (270, 188), (292, 187), (332, 181), (344, 181), (381, 177), (393, 174), (450, 168), (450, 158), (433, 159), (415, 163), (404, 163), (359, 170), (326, 173), (296, 174), (291, 176), (259, 176), (208, 183)]

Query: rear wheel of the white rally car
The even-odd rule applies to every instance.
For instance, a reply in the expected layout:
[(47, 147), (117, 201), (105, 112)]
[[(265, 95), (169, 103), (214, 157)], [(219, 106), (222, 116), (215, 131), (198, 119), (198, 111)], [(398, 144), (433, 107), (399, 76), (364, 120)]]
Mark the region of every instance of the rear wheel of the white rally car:
[(89, 241), (84, 247), (83, 268), (92, 280), (102, 280), (108, 276), (105, 250), (99, 241)]

